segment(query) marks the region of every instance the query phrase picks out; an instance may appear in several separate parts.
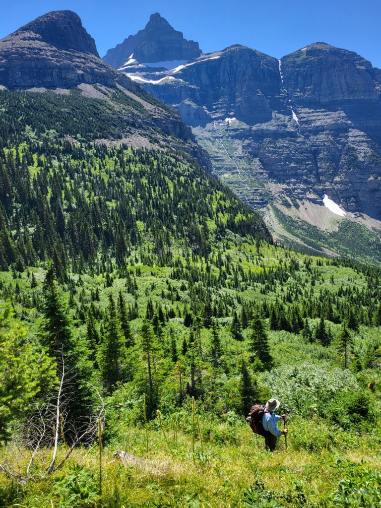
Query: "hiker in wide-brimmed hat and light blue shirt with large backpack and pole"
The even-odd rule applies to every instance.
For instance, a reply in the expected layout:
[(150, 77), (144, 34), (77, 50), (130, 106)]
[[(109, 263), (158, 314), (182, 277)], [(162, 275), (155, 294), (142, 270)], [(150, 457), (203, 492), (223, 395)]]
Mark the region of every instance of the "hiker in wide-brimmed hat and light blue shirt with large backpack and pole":
[(287, 436), (287, 429), (279, 430), (278, 422), (285, 420), (286, 416), (274, 415), (275, 409), (280, 406), (279, 400), (270, 399), (265, 406), (255, 405), (250, 409), (250, 415), (246, 419), (250, 423), (253, 432), (265, 438), (265, 450), (273, 452), (276, 441), (281, 435)]

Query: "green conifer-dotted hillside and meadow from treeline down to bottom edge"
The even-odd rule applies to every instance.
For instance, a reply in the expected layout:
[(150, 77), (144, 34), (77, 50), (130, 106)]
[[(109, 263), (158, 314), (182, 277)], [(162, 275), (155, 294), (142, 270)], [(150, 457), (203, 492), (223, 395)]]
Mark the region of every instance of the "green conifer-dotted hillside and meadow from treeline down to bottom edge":
[[(78, 91), (70, 114), (18, 93), (0, 92), (0, 506), (376, 505), (381, 271), (274, 245), (185, 153), (114, 143)], [(270, 397), (290, 426), (273, 456), (244, 421)]]

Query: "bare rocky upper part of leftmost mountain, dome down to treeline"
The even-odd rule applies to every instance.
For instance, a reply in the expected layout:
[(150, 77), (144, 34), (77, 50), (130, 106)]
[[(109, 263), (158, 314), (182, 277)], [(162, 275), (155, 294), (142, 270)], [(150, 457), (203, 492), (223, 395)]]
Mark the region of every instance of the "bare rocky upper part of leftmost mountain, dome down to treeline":
[(136, 89), (102, 61), (94, 40), (72, 11), (54, 11), (0, 40), (0, 85), (57, 88), (116, 83)]

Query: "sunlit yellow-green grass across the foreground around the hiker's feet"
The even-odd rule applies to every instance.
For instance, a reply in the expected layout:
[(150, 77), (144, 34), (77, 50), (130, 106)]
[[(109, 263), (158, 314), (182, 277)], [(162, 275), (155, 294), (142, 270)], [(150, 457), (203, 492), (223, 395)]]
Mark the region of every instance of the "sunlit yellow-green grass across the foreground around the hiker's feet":
[[(280, 506), (337, 506), (328, 498), (338, 482), (346, 478), (348, 464), (355, 464), (358, 471), (379, 467), (379, 430), (376, 434), (348, 435), (339, 428), (327, 428), (319, 420), (292, 419), (288, 449), (282, 438), (270, 454), (263, 450), (263, 439), (252, 434), (245, 423), (230, 418), (228, 422), (211, 424), (204, 418), (204, 455), (200, 455), (197, 439), (193, 457), (190, 414), (184, 413), (185, 433), (179, 430), (174, 436), (171, 422), (165, 422), (173, 455), (160, 429), (155, 429), (156, 422), (149, 429), (148, 454), (144, 430), (121, 422), (118, 437), (103, 453), (103, 496), (89, 506), (254, 506), (245, 504), (248, 490), (253, 486), (258, 493), (262, 484), (264, 496), (276, 499)], [(180, 416), (176, 421), (181, 424)], [(124, 450), (139, 460), (123, 464), (113, 457), (116, 450)], [(63, 452), (64, 448), (60, 453)], [(65, 478), (74, 464), (89, 469), (98, 484), (99, 457), (94, 446), (91, 450), (77, 450), (53, 478), (19, 487), (15, 499), (1, 505), (65, 506), (65, 499), (52, 492), (52, 485)], [(5, 496), (12, 484), (7, 481), (2, 488)], [(305, 503), (296, 497), (299, 490), (306, 496)]]

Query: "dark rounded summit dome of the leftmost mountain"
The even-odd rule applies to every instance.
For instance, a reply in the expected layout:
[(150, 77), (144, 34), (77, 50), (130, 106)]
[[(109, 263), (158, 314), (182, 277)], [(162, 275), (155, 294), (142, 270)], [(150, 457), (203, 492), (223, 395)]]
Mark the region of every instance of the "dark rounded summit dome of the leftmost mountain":
[(29, 42), (46, 43), (63, 50), (80, 51), (99, 56), (94, 39), (82, 26), (81, 18), (73, 11), (52, 11), (30, 21), (2, 40), (13, 46)]

